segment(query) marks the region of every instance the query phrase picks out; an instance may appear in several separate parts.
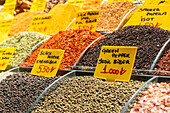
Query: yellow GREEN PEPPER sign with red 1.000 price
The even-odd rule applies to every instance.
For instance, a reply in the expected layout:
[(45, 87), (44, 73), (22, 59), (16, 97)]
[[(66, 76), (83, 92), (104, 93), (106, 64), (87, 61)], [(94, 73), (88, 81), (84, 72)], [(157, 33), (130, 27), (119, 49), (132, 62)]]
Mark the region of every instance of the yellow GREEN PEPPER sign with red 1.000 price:
[(106, 81), (130, 80), (137, 47), (102, 46), (94, 73), (95, 78)]

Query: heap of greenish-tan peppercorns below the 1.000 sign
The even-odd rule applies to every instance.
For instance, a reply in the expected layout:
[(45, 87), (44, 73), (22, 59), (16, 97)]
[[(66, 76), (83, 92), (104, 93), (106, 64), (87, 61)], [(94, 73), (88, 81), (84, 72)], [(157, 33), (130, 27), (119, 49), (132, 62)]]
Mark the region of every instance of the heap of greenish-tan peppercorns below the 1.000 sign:
[(42, 97), (32, 113), (112, 112), (120, 113), (126, 102), (144, 82), (105, 82), (92, 76), (66, 79), (47, 97)]

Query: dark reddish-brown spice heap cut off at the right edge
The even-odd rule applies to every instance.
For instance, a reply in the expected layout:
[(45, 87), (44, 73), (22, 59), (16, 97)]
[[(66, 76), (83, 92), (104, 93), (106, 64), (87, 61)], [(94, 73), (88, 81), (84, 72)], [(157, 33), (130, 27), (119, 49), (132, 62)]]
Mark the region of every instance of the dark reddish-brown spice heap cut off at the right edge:
[[(159, 63), (156, 64), (154, 70), (170, 71), (170, 49), (165, 52), (164, 56), (160, 59)], [(168, 75), (170, 72), (156, 72), (157, 75)]]

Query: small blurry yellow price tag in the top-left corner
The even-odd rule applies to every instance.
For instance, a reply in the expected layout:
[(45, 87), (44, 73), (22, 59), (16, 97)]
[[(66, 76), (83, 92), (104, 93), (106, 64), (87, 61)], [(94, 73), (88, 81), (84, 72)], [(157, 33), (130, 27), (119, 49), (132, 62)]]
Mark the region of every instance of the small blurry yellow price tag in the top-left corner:
[(4, 8), (2, 9), (2, 11), (7, 12), (7, 13), (9, 13), (11, 15), (14, 15), (15, 6), (16, 6), (16, 2), (5, 3)]

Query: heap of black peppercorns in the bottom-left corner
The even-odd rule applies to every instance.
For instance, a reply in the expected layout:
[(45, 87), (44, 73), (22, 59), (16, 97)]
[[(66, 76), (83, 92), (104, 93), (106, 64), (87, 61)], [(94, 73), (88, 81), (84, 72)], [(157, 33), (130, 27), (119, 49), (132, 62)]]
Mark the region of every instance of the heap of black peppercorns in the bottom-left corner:
[(28, 72), (10, 74), (0, 82), (0, 112), (26, 113), (43, 90), (57, 78), (40, 78)]

